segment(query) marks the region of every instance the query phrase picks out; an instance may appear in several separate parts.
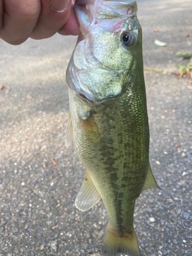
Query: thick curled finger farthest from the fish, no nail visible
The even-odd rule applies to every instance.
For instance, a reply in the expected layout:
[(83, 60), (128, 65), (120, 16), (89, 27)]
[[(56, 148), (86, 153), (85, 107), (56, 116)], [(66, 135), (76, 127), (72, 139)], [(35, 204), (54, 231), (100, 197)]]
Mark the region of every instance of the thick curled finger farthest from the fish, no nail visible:
[(5, 0), (3, 12), (0, 37), (11, 45), (19, 45), (28, 39), (37, 23), (40, 0)]

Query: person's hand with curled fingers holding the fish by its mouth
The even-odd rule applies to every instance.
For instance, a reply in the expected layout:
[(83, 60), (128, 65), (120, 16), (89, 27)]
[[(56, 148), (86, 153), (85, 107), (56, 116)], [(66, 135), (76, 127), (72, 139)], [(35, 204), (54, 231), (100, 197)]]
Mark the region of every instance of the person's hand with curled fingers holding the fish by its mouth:
[(79, 35), (73, 0), (0, 0), (0, 38), (20, 45), (29, 37)]

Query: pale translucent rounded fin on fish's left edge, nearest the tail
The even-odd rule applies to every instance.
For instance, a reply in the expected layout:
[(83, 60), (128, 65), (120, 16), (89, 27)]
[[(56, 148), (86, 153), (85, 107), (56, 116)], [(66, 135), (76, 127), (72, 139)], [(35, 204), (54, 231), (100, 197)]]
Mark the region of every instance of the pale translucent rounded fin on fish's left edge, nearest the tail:
[(75, 205), (79, 210), (86, 211), (98, 203), (100, 199), (101, 197), (86, 170), (86, 177), (75, 200)]

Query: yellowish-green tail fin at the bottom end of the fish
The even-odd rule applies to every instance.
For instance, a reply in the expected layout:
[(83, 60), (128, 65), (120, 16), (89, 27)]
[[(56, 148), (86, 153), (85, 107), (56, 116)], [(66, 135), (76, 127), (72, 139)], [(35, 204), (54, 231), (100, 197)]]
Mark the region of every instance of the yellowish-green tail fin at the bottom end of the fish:
[(133, 229), (130, 233), (120, 236), (119, 233), (108, 224), (102, 243), (102, 256), (113, 256), (116, 253), (140, 256), (136, 233)]

